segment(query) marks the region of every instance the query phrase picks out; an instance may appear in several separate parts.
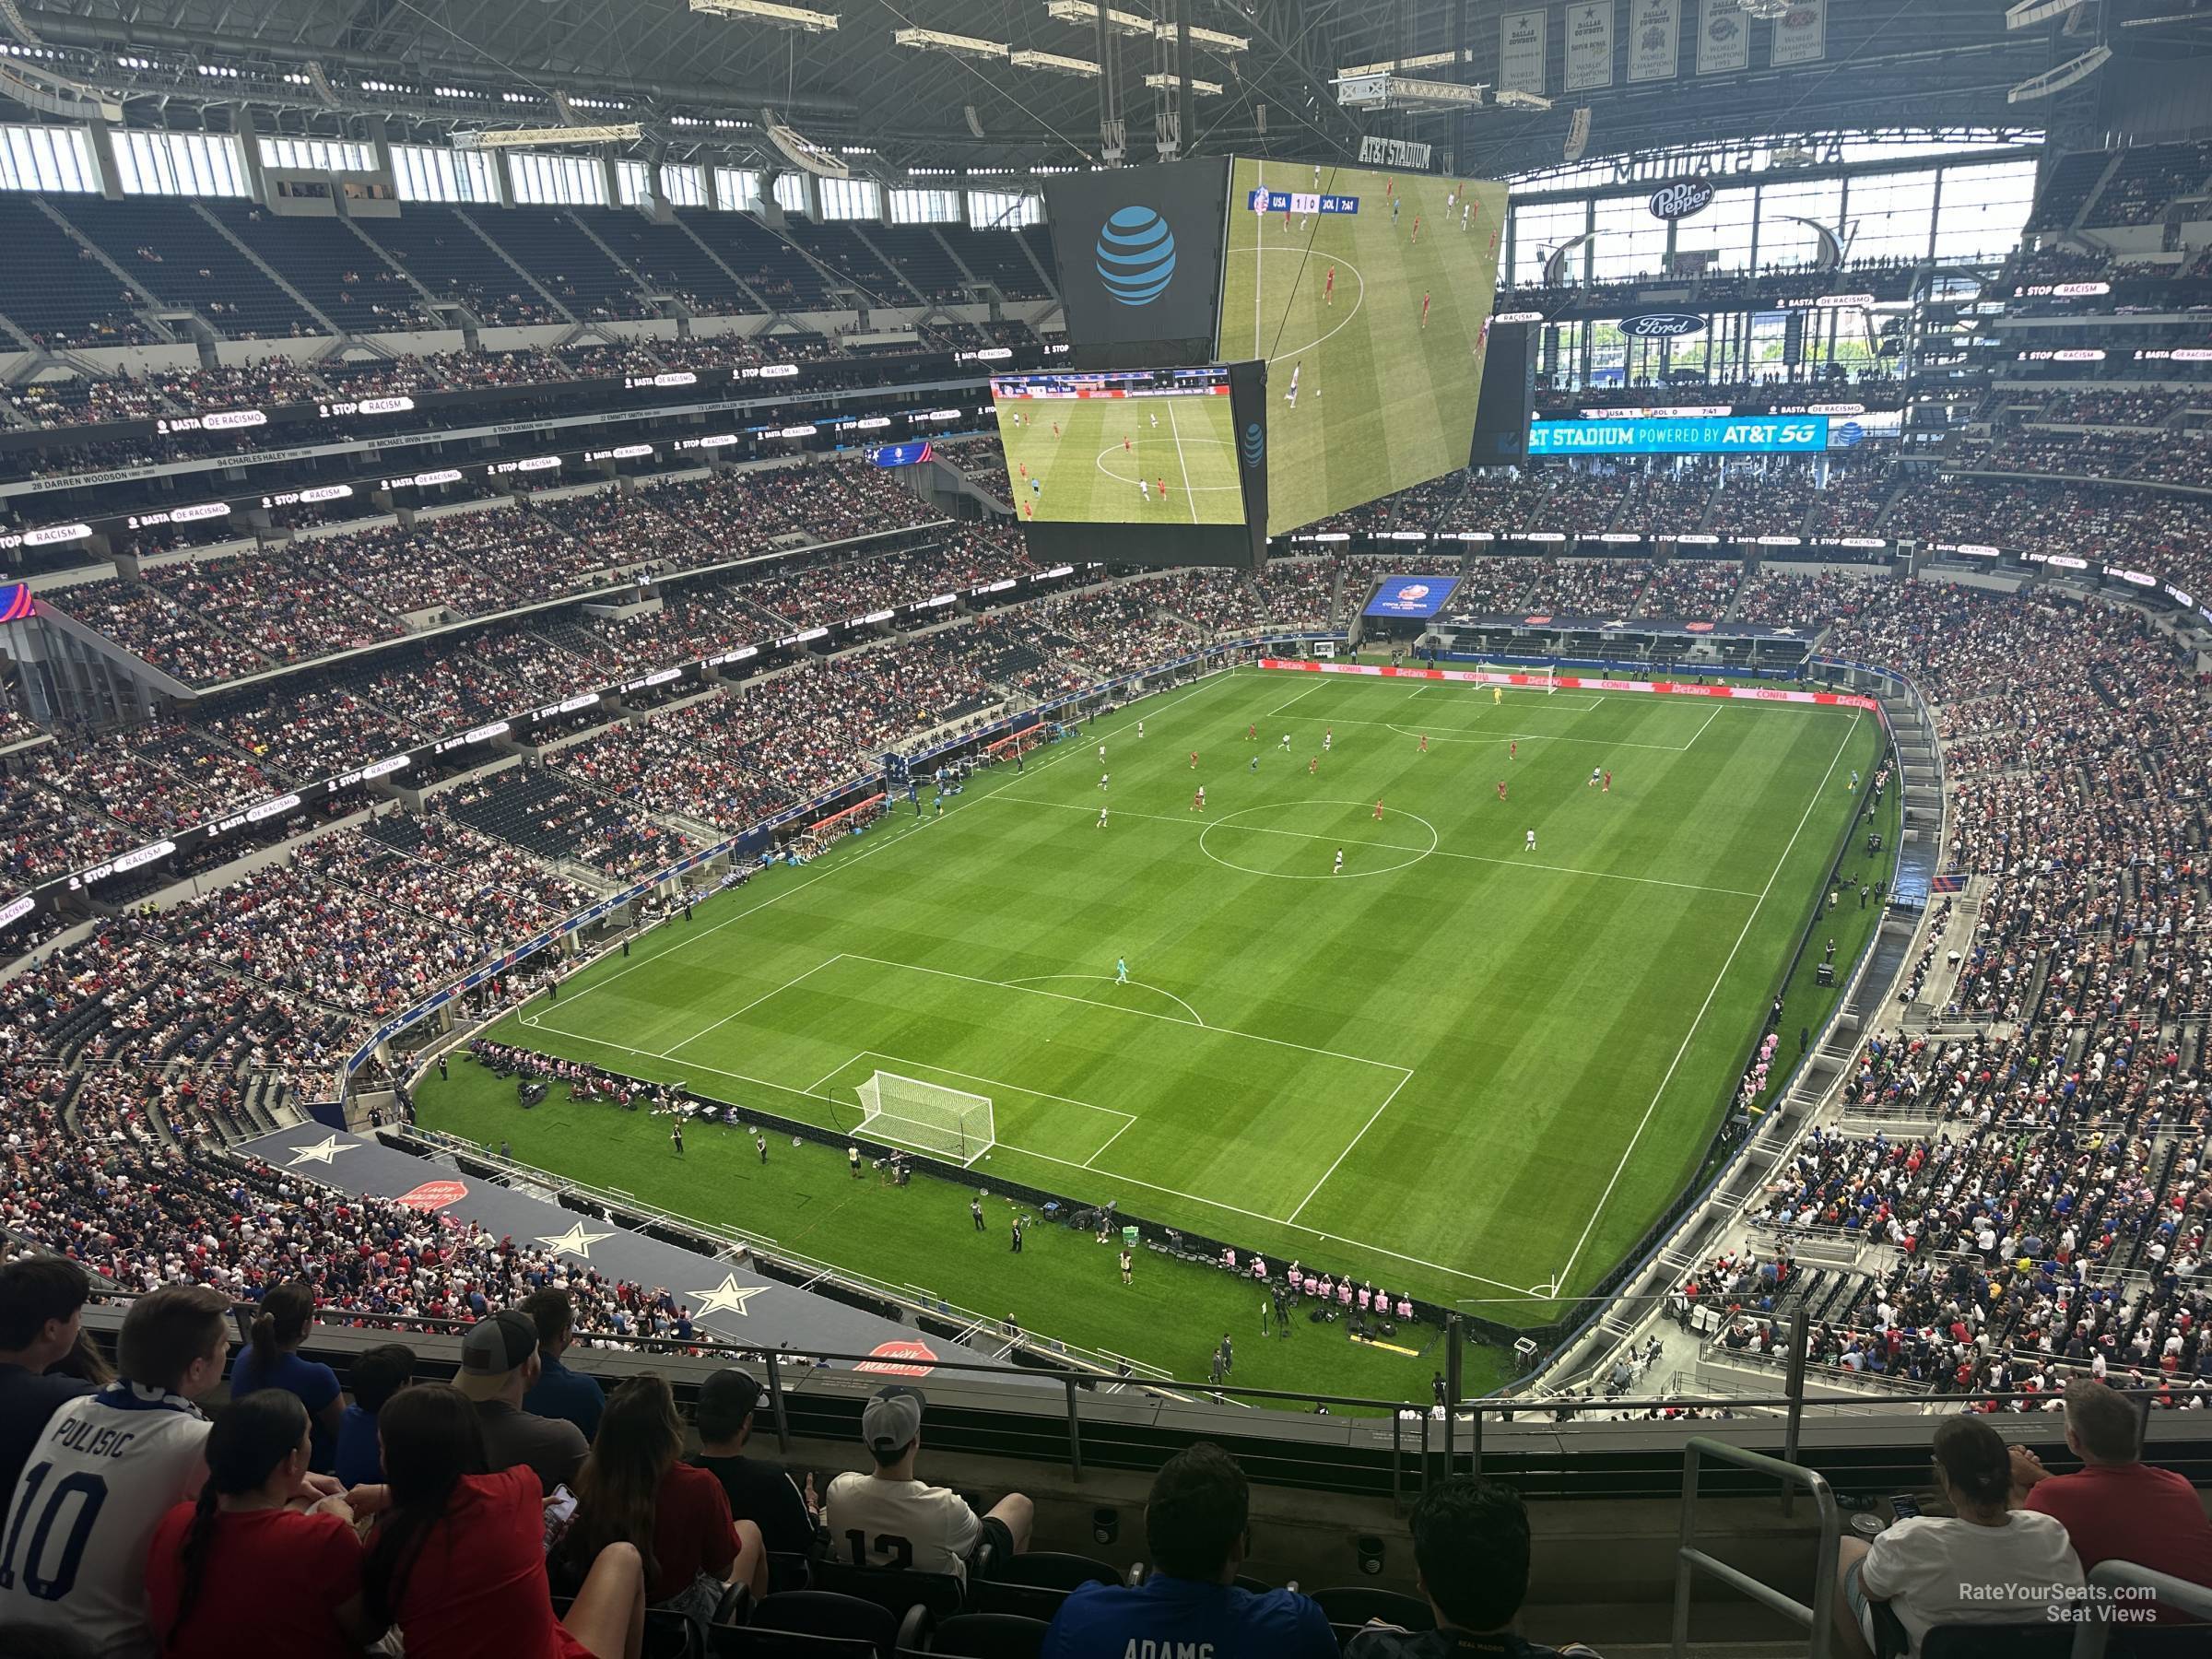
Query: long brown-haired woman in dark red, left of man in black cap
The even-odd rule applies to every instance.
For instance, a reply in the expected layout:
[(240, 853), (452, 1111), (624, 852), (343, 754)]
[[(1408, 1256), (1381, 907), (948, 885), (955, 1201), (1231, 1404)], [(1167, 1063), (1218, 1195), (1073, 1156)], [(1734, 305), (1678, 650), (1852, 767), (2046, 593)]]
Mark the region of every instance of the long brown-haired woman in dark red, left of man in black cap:
[(584, 1571), (611, 1544), (646, 1559), (646, 1601), (710, 1617), (732, 1584), (768, 1595), (761, 1528), (730, 1520), (730, 1495), (706, 1469), (679, 1462), (684, 1420), (650, 1371), (606, 1398), (591, 1458), (575, 1482), (575, 1522), (562, 1559)]

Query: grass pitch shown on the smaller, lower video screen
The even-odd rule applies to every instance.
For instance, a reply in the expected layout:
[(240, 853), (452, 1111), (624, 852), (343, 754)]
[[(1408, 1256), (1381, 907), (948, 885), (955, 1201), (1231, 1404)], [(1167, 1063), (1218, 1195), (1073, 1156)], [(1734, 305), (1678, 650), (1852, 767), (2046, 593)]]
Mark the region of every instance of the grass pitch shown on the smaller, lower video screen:
[[(998, 411), (1009, 487), (1024, 522), (1243, 522), (1228, 396), (1000, 398)], [(1042, 489), (1033, 491), (1031, 478)], [(1150, 495), (1137, 491), (1139, 478), (1152, 484)]]

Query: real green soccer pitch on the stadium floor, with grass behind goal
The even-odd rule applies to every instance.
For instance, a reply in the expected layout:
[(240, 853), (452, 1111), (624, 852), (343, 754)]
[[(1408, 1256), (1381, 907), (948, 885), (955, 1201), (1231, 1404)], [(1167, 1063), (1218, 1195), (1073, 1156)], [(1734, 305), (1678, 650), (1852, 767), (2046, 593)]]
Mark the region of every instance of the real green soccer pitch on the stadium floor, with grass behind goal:
[[(995, 768), (942, 818), (900, 807), (772, 869), (491, 1035), (834, 1126), (876, 1068), (982, 1093), (975, 1186), (1119, 1199), (1540, 1323), (1694, 1175), (1878, 743), (1834, 708), (1241, 670)], [(1256, 1336), (1256, 1292), (1221, 1274), (1146, 1256), (1124, 1296), (1113, 1252), (1062, 1230), (1011, 1256), (1000, 1214), (973, 1234), (967, 1186), (852, 1183), (790, 1141), (763, 1170), (712, 1130), (677, 1164), (644, 1115), (524, 1115), (473, 1066), (420, 1110), (1186, 1376), (1217, 1321)], [(1343, 1343), (1254, 1363), (1239, 1380), (1427, 1385)]]

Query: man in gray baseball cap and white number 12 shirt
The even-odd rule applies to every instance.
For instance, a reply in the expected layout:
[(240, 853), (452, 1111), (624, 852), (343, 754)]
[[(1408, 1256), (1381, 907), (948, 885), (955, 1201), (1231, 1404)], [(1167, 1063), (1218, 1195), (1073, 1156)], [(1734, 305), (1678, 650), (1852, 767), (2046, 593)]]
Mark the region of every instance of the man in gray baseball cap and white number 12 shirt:
[(1029, 1548), (1035, 1504), (1013, 1491), (978, 1515), (949, 1486), (929, 1486), (914, 1478), (914, 1455), (922, 1447), (922, 1394), (887, 1387), (860, 1411), (860, 1442), (876, 1460), (872, 1473), (843, 1473), (823, 1495), (823, 1524), (830, 1528), (830, 1551), (854, 1559), (852, 1533), (863, 1540), (863, 1566), (891, 1566), (898, 1557), (878, 1548), (878, 1540), (902, 1537), (914, 1546), (920, 1573), (951, 1573), (967, 1579), (984, 1544), (991, 1559), (1004, 1562)]

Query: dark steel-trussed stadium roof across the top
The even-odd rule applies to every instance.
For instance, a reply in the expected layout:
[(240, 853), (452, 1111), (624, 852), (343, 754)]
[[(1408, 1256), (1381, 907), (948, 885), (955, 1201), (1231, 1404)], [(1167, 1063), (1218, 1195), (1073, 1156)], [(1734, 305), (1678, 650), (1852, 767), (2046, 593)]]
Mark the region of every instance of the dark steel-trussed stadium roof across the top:
[[(1697, 7), (1681, 0), (1686, 35)], [(2008, 0), (1827, 0), (1827, 51), (1805, 66), (1772, 69), (1759, 49), (1741, 73), (1635, 86), (1615, 75), (1601, 91), (1566, 93), (1562, 29), (1551, 27), (1551, 108), (1338, 108), (1332, 82), (1345, 66), (1418, 64), (1429, 80), (1495, 86), (1500, 18), (1517, 9), (1522, 0), (1113, 0), (1104, 35), (1133, 135), (1150, 135), (1148, 117), (1188, 71), (1223, 95), (1183, 113), (1183, 153), (1349, 161), (1371, 133), (1431, 142), (1484, 175), (1557, 164), (1579, 104), (1590, 108), (1588, 157), (1778, 131), (2000, 126), (2020, 115), (2006, 113), (2008, 88), (2112, 44), (2119, 60), (2106, 75), (2035, 106), (2044, 126), (2090, 131), (2110, 97), (2099, 86), (2126, 69), (2130, 46), (2166, 58), (2212, 49), (2212, 18), (2183, 7), (2174, 22), (2172, 0), (2081, 0), (2022, 29), (2006, 27)], [(1099, 150), (1104, 80), (1026, 58), (1097, 62), (1102, 31), (1068, 7), (814, 0), (801, 11), (834, 13), (836, 27), (690, 0), (15, 0), (0, 9), (0, 38), (122, 95), (139, 124), (223, 128), (239, 106), (254, 108), (261, 131), (345, 133), (383, 115), (396, 137), (637, 119), (648, 150), (710, 148), (772, 166), (754, 124), (774, 108), (887, 179), (920, 166), (1082, 166)], [(1188, 64), (1172, 44), (1181, 22), (1210, 31)], [(1009, 58), (894, 46), (894, 31), (916, 27), (1000, 42)], [(1170, 86), (1146, 88), (1146, 75)], [(1133, 159), (1148, 155), (1130, 144)]]

